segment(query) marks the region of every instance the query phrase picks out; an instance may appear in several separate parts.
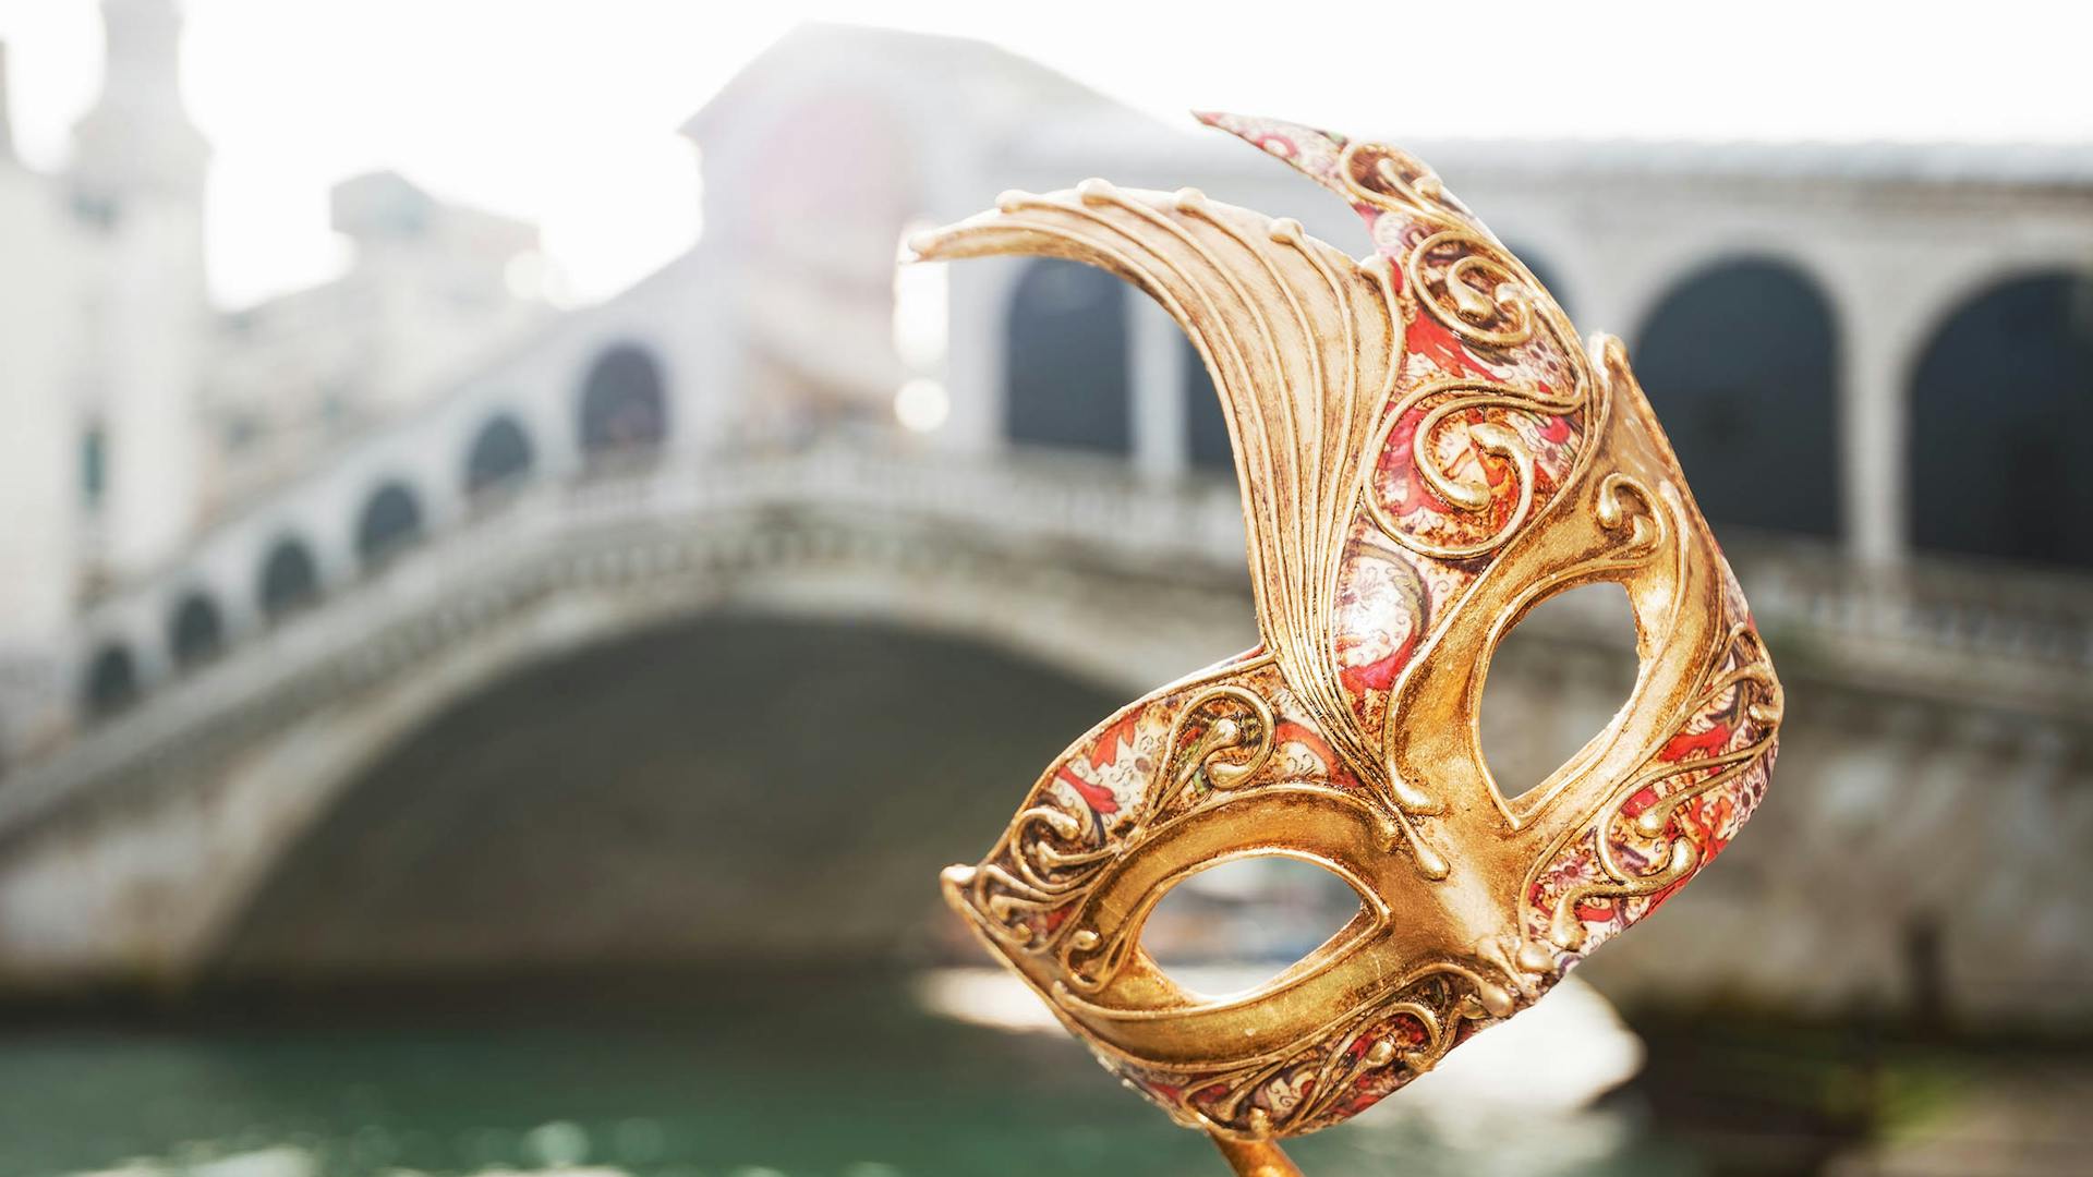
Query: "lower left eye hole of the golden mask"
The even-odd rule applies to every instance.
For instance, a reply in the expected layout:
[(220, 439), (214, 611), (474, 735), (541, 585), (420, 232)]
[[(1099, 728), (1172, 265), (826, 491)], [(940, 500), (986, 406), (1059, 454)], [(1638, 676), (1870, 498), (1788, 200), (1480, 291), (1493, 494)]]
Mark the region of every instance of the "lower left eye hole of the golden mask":
[(1229, 859), (1178, 880), (1149, 913), (1141, 947), (1180, 986), (1220, 997), (1287, 972), (1363, 911), (1329, 867), (1279, 854)]

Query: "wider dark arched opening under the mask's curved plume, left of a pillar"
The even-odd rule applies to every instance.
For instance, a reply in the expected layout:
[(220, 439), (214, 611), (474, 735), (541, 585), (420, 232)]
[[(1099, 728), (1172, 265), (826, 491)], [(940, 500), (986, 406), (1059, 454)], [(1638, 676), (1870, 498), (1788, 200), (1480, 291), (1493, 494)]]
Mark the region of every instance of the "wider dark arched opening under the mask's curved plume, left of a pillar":
[(1124, 454), (1126, 289), (1078, 262), (1026, 264), (1007, 325), (1003, 425), (1011, 442)]

